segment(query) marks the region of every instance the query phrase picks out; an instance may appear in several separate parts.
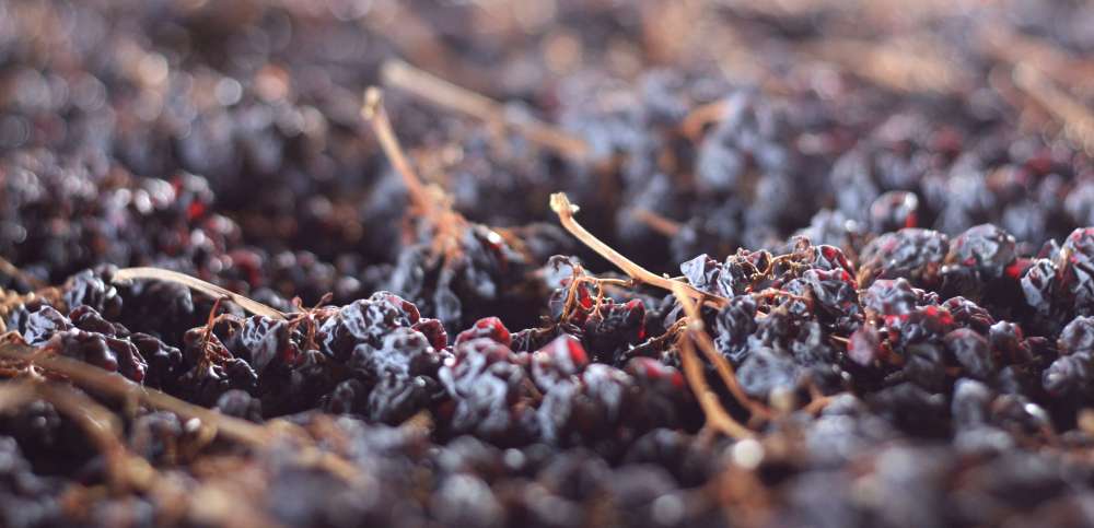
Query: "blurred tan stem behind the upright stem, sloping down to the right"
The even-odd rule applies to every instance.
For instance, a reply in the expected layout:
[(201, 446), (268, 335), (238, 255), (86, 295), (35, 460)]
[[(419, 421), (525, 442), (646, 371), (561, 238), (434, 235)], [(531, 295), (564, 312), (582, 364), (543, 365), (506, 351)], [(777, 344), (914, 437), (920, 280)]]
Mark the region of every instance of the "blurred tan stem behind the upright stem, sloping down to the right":
[(385, 84), (396, 86), (438, 106), (512, 128), (532, 142), (572, 160), (584, 160), (590, 153), (589, 145), (580, 138), (532, 117), (516, 119), (505, 112), (501, 103), (452, 84), (401, 60), (385, 62), (381, 77)]

